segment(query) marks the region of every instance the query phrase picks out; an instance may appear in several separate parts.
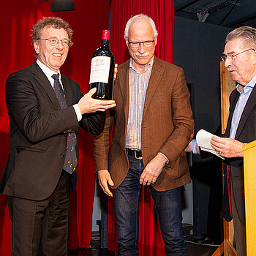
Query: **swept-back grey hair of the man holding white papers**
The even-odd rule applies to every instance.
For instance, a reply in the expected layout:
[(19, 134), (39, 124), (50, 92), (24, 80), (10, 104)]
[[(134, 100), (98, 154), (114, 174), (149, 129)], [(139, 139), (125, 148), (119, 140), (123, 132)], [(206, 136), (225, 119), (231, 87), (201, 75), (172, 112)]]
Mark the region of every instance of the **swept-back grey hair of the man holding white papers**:
[(251, 26), (241, 26), (237, 29), (234, 29), (227, 34), (225, 43), (241, 37), (244, 40), (244, 45), (252, 47), (256, 50), (256, 29)]

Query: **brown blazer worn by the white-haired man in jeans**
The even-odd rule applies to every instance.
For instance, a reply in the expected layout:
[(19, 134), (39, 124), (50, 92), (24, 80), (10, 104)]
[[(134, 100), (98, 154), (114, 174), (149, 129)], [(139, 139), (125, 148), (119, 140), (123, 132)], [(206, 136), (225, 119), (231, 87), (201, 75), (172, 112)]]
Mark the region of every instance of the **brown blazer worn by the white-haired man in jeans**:
[[(128, 172), (125, 148), (129, 115), (129, 61), (118, 67), (113, 99), (116, 100), (116, 107), (110, 115), (107, 114), (104, 132), (94, 138), (94, 157), (96, 171), (109, 169), (110, 131), (114, 118), (110, 175), (115, 189)], [(153, 185), (154, 189), (165, 191), (190, 182), (184, 148), (192, 140), (193, 132), (194, 121), (183, 70), (155, 57), (143, 110), (141, 151), (144, 166), (157, 152), (165, 154), (170, 164), (163, 168)]]

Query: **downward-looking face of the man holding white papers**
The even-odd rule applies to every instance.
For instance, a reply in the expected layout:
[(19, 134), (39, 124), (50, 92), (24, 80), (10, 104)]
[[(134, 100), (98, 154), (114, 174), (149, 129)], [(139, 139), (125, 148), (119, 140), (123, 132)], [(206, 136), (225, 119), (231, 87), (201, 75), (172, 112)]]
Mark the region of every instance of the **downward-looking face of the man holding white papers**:
[[(242, 37), (237, 37), (227, 42), (224, 54), (227, 56), (235, 55), (249, 48), (252, 47), (246, 46)], [(235, 56), (233, 60), (227, 58), (225, 67), (230, 72), (232, 80), (246, 86), (256, 75), (256, 53), (254, 50), (248, 50)]]

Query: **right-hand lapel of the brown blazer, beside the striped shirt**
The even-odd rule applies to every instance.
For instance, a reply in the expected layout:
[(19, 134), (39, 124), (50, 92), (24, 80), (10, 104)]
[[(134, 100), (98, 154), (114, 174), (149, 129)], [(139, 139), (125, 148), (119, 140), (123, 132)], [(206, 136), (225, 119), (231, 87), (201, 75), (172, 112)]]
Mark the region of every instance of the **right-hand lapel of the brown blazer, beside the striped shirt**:
[(148, 82), (148, 89), (146, 91), (144, 111), (147, 110), (148, 105), (150, 104), (151, 98), (154, 96), (154, 92), (157, 90), (157, 87), (159, 86), (159, 82), (162, 78), (163, 73), (164, 71), (161, 68), (161, 64), (159, 64), (159, 59), (157, 59), (157, 57), (155, 56), (150, 79)]

